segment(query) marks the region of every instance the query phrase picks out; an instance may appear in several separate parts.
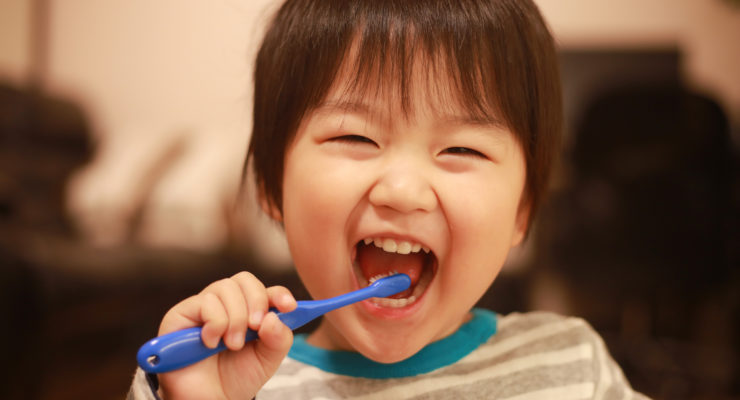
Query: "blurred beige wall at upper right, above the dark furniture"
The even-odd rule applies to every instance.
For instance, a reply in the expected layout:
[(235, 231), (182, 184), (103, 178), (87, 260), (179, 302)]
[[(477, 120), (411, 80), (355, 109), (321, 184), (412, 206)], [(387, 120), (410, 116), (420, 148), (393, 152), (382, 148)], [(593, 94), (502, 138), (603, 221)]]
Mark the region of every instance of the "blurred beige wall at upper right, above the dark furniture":
[[(686, 83), (717, 96), (740, 124), (740, 5), (720, 0), (537, 0), (564, 48), (684, 53)], [(738, 143), (738, 138), (735, 138)]]

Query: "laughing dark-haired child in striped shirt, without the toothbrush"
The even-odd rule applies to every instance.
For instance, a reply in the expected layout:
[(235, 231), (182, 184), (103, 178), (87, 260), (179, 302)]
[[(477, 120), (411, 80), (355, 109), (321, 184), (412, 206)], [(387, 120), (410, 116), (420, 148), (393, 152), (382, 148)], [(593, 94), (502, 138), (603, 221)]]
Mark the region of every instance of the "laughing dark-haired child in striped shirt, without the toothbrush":
[(202, 325), (231, 351), (138, 371), (130, 398), (641, 398), (581, 320), (473, 308), (526, 236), (560, 129), (531, 1), (288, 0), (255, 71), (263, 208), (313, 298), (393, 271), (412, 287), (293, 337), (267, 312), (295, 307), (287, 289), (215, 282), (159, 333)]

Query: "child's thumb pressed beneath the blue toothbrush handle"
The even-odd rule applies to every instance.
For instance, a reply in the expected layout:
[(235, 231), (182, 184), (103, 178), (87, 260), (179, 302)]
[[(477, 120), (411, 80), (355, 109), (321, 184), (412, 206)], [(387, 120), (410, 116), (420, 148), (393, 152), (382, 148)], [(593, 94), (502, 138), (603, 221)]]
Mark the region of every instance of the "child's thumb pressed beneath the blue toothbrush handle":
[(288, 350), (293, 344), (293, 331), (275, 313), (267, 313), (258, 331), (259, 340), (255, 342), (255, 353), (259, 357), (266, 376), (277, 371)]

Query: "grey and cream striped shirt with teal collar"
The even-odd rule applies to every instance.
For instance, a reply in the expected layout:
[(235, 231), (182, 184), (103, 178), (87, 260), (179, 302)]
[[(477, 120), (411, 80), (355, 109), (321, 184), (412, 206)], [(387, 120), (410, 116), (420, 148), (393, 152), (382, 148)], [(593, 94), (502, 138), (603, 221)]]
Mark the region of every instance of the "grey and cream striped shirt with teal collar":
[[(129, 398), (153, 398), (140, 371)], [(132, 396), (134, 392), (146, 397)], [(147, 393), (148, 392), (148, 393)], [(296, 335), (257, 394), (270, 399), (645, 399), (582, 319), (482, 309), (457, 332), (395, 364), (320, 349)]]

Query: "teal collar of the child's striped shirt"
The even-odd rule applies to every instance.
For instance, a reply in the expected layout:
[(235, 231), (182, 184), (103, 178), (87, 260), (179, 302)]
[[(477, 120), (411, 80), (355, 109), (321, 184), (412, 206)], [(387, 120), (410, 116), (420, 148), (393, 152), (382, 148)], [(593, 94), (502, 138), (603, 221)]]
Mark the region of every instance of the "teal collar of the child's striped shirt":
[(296, 335), (288, 356), (326, 372), (357, 378), (403, 378), (454, 364), (496, 333), (496, 314), (474, 308), (473, 318), (452, 335), (431, 343), (410, 358), (381, 364), (351, 351), (325, 350), (306, 343), (306, 334)]

